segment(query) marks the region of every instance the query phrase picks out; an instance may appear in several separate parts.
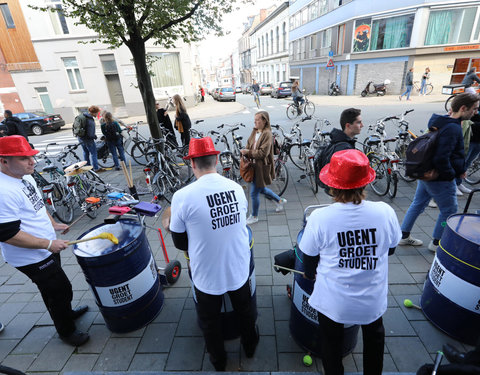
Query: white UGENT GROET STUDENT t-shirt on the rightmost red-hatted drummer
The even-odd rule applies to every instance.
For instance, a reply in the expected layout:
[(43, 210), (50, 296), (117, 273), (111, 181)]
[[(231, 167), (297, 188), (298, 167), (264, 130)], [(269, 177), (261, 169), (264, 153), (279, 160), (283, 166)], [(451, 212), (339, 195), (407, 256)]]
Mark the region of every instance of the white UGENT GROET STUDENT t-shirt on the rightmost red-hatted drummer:
[(300, 249), (320, 255), (309, 304), (337, 323), (369, 324), (387, 310), (388, 249), (402, 237), (386, 203), (334, 203), (309, 217)]

